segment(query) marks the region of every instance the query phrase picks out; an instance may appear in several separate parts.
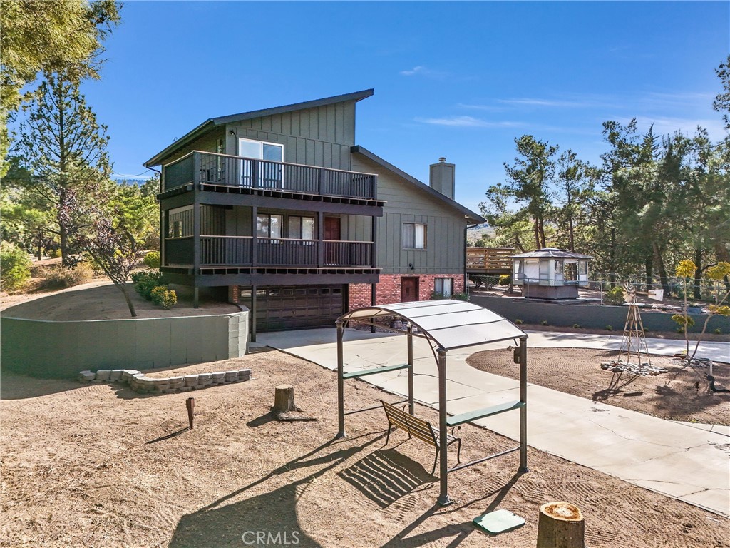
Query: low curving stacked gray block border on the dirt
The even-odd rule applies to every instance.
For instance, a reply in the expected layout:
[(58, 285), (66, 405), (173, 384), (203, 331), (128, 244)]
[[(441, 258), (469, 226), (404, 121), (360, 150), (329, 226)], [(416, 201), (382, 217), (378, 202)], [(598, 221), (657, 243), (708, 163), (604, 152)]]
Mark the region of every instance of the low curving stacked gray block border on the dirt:
[(139, 394), (176, 394), (177, 392), (218, 387), (222, 384), (250, 381), (251, 370), (237, 369), (216, 371), (215, 373), (152, 378), (136, 369), (100, 369), (96, 373), (92, 373), (90, 370), (80, 371), (78, 379), (88, 382), (101, 381), (128, 384), (134, 392)]

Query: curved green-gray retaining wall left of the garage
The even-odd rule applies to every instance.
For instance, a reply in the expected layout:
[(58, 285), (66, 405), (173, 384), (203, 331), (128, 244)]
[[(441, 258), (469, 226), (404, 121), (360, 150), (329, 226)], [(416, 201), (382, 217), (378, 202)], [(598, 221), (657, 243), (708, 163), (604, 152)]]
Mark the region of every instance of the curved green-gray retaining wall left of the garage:
[(79, 370), (150, 369), (240, 357), (248, 311), (220, 316), (45, 321), (3, 316), (2, 368), (76, 378)]

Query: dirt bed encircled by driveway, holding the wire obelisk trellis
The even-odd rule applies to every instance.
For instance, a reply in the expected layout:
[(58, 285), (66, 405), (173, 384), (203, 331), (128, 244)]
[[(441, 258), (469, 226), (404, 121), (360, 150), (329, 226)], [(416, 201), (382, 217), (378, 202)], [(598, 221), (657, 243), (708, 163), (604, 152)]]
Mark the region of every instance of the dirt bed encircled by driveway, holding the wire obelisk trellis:
[[(651, 365), (668, 370), (656, 376), (611, 373), (601, 369), (618, 352), (594, 349), (530, 349), (527, 380), (539, 386), (612, 406), (658, 416), (661, 419), (730, 425), (730, 393), (712, 392), (707, 367), (683, 367), (671, 357), (651, 356)], [(473, 354), (474, 368), (519, 378), (518, 366), (503, 351)], [(730, 388), (730, 367), (716, 364), (712, 376)]]

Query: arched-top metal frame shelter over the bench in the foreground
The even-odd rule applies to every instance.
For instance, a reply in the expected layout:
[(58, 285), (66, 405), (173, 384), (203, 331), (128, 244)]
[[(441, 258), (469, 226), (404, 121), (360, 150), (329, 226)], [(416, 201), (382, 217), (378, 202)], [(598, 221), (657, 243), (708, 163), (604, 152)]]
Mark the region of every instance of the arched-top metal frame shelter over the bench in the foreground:
[[(371, 326), (375, 319), (399, 319), (406, 325), (407, 363), (388, 365), (380, 368), (345, 371), (344, 347), (342, 337), (345, 327), (352, 321)], [(383, 327), (377, 324), (377, 327)], [(396, 330), (394, 330), (396, 331)], [(401, 331), (401, 330), (397, 330)], [(392, 305), (377, 305), (358, 308), (343, 314), (337, 319), (337, 437), (345, 435), (345, 415), (369, 411), (380, 406), (347, 411), (345, 413), (345, 378), (359, 378), (385, 371), (408, 370), (408, 406), (413, 414), (413, 338), (426, 339), (436, 360), (439, 387), (439, 440), (447, 439), (447, 428), (474, 422), (486, 416), (506, 411), (520, 410), (520, 445), (496, 454), (481, 457), (470, 463), (458, 464), (448, 468), (446, 460), (447, 444), (439, 444), (439, 498), (441, 506), (453, 503), (448, 495), (448, 474), (483, 463), (485, 460), (500, 457), (514, 451), (520, 451), (520, 473), (527, 471), (527, 334), (499, 314), (486, 308), (461, 300), (432, 300), (418, 302), (399, 302)], [(514, 359), (520, 365), (519, 399), (500, 403), (496, 406), (469, 411), (464, 414), (449, 416), (447, 413), (447, 352), (453, 349), (464, 349), (486, 343), (498, 343), (512, 340), (515, 342)]]

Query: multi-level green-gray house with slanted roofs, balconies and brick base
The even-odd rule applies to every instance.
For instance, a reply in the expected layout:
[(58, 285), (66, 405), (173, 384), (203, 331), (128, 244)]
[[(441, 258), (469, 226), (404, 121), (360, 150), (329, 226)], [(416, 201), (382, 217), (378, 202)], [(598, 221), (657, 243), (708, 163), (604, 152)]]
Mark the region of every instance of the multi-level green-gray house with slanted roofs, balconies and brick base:
[(454, 166), (426, 185), (355, 144), (373, 91), (210, 118), (161, 166), (161, 271), (250, 308), (256, 330), (332, 325), (372, 302), (464, 291)]

